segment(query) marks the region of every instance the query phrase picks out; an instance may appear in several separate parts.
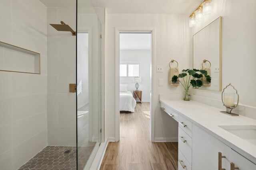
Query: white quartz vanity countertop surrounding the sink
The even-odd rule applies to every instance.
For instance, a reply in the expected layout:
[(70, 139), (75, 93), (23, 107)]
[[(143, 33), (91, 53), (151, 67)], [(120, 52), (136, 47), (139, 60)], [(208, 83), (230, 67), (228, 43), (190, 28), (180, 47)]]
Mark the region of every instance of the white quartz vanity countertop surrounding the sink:
[(230, 148), (240, 153), (256, 164), (256, 146), (244, 139), (229, 133), (218, 127), (220, 125), (256, 125), (256, 120), (244, 116), (230, 116), (216, 107), (208, 106), (194, 101), (184, 100), (160, 100), (160, 102), (172, 107), (180, 115), (192, 121)]

